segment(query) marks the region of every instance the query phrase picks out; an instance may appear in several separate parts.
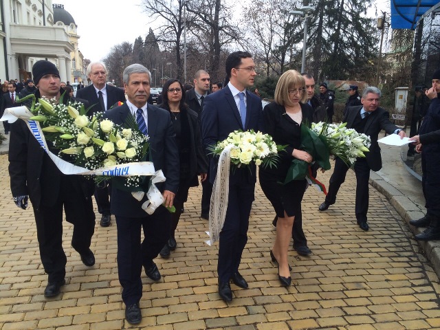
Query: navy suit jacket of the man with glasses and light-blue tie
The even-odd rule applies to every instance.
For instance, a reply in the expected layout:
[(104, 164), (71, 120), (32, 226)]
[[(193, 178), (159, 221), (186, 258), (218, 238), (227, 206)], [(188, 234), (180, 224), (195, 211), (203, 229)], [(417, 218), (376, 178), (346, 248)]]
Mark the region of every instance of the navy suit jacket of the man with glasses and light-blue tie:
[[(203, 102), (203, 111), (201, 113), (201, 132), (203, 137), (203, 145), (214, 146), (217, 142), (225, 140), (229, 133), (241, 129), (249, 131), (253, 129), (264, 132), (263, 122), (263, 106), (261, 99), (255, 94), (246, 91), (246, 121), (245, 127), (241, 123), (239, 109), (236, 106), (234, 96), (228, 86), (206, 96)], [(209, 153), (210, 151), (208, 151)], [(210, 157), (210, 181), (214, 183), (217, 175), (218, 158)], [(256, 182), (256, 168), (251, 171), (248, 168), (237, 169), (248, 171), (248, 181)], [(252, 173), (252, 174), (250, 174)], [(231, 175), (231, 180), (235, 175)]]

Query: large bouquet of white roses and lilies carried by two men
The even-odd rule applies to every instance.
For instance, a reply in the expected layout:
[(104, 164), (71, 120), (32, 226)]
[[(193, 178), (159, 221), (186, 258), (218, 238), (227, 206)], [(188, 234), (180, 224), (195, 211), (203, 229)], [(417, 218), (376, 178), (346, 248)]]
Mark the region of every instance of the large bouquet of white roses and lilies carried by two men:
[[(36, 102), (35, 96), (32, 96), (30, 111), (33, 116), (29, 119), (40, 123), (45, 140), (52, 142), (50, 149), (61, 159), (88, 170), (145, 159), (148, 136), (140, 132), (133, 116), (129, 116), (122, 126), (102, 119), (102, 113), (87, 116), (87, 109), (82, 103), (63, 104), (64, 95), (58, 104), (54, 99), (46, 98)], [(96, 177), (98, 182), (103, 179), (106, 177)], [(124, 177), (124, 182), (127, 188), (136, 187), (142, 182), (142, 177)]]

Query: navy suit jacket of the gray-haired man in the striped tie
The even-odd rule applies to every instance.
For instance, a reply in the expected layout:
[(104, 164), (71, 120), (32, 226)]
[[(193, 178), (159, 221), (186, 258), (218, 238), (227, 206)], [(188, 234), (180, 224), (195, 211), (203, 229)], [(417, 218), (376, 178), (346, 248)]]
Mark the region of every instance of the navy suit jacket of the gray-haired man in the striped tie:
[[(157, 188), (163, 192), (170, 190), (174, 193), (179, 188), (179, 151), (175, 140), (173, 122), (170, 113), (164, 109), (148, 104), (148, 136), (150, 137), (150, 149), (148, 151), (155, 170), (162, 170), (166, 181), (157, 184)], [(131, 114), (129, 106), (124, 103), (105, 112), (104, 117), (109, 118), (115, 124), (124, 124), (127, 116)], [(111, 188), (111, 213), (123, 217), (145, 217), (142, 210), (142, 201), (137, 201), (131, 192), (119, 190), (115, 185)]]

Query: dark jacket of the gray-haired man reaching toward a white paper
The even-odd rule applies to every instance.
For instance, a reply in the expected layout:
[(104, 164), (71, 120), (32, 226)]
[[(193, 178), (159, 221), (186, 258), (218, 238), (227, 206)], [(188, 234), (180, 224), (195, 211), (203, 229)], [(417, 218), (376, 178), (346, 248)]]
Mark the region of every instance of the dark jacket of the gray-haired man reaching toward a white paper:
[[(361, 105), (347, 109), (347, 113), (344, 115), (342, 122), (347, 122), (348, 129), (352, 128), (355, 118), (360, 113), (362, 107), (363, 106)], [(371, 137), (370, 151), (365, 153), (365, 155), (366, 162), (374, 171), (382, 168), (382, 157), (380, 155), (380, 146), (377, 143), (377, 135), (379, 135), (379, 132), (382, 131), (382, 129), (388, 134), (393, 134), (396, 129), (399, 129), (399, 127), (390, 122), (389, 117), (390, 115), (388, 111), (383, 108), (377, 108), (370, 113), (367, 118), (364, 132), (360, 132)]]

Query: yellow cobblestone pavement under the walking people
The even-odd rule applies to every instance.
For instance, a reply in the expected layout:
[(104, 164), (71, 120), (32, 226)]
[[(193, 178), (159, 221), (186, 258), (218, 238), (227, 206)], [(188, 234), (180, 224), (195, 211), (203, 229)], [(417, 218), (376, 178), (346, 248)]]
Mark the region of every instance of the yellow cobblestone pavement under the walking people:
[[(383, 195), (370, 187), (370, 231), (354, 217), (351, 171), (338, 201), (319, 212), (324, 195), (308, 189), (303, 222), (313, 254), (289, 252), (292, 286), (278, 283), (270, 261), (274, 212), (257, 185), (249, 241), (241, 274), (249, 289), (232, 285), (234, 300), (217, 294), (217, 246), (203, 243), (207, 221), (198, 217), (201, 190), (192, 188), (177, 232), (177, 250), (156, 259), (163, 278), (143, 275), (142, 323), (124, 320), (116, 265), (116, 226), (99, 226), (91, 249), (96, 265), (86, 267), (70, 246), (64, 223), (67, 284), (47, 299), (32, 210), (12, 202), (8, 156), (0, 155), (0, 329), (440, 329), (439, 278), (412, 234)], [(319, 174), (328, 184), (331, 170)]]

